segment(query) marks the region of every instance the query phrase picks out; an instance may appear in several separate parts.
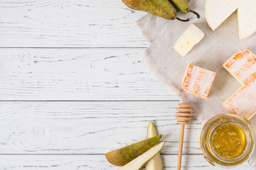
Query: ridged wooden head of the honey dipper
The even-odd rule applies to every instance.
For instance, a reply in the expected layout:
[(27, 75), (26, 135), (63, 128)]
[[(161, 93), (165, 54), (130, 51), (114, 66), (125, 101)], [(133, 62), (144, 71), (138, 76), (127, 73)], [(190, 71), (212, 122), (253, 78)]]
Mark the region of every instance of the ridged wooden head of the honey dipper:
[(192, 108), (190, 104), (178, 104), (179, 108), (176, 108), (176, 119), (177, 123), (181, 125), (188, 125), (191, 120)]

